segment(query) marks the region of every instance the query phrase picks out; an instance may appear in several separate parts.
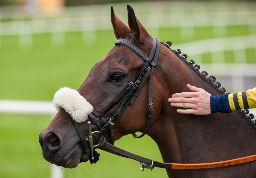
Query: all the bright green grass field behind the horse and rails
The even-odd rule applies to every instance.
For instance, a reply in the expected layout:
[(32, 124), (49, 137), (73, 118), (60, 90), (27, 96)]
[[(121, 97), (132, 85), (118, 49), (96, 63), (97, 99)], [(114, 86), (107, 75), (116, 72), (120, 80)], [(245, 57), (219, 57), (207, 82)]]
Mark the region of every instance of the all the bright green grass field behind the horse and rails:
[[(215, 38), (213, 31), (213, 27), (196, 27), (194, 37), (184, 39), (180, 36), (180, 28), (148, 29), (152, 36), (160, 41), (172, 41), (177, 48), (182, 43)], [(248, 33), (247, 25), (227, 27), (229, 37)], [(81, 32), (67, 32), (65, 43), (60, 46), (52, 45), (51, 35), (34, 34), (30, 49), (20, 48), (19, 36), (1, 36), (0, 99), (50, 101), (60, 87), (78, 89), (92, 66), (115, 44), (110, 30), (96, 31), (95, 41), (85, 43)], [(225, 62), (233, 63), (233, 52), (224, 53)], [(246, 49), (245, 53), (250, 56), (246, 62), (255, 63), (255, 49)], [(189, 54), (188, 59), (191, 59)], [(210, 53), (203, 54), (202, 59), (204, 63), (213, 62)], [(39, 133), (50, 120), (48, 115), (0, 114), (0, 177), (50, 176), (50, 163), (43, 159), (38, 142)], [(156, 144), (149, 137), (133, 139), (125, 136), (116, 141), (116, 146), (162, 161)], [(82, 163), (74, 170), (63, 169), (65, 177), (167, 177), (164, 169), (141, 172), (137, 161), (99, 152), (101, 156), (97, 165)]]

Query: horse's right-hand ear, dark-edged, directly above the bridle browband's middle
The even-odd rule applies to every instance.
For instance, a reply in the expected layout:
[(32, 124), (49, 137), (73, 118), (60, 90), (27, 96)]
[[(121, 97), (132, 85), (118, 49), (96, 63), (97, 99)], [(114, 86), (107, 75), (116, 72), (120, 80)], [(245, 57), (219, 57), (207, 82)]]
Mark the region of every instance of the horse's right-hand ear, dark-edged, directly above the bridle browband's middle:
[(145, 30), (145, 28), (141, 25), (140, 21), (136, 18), (135, 13), (130, 5), (127, 5), (127, 10), (128, 10), (128, 24), (135, 39), (139, 42), (144, 43), (143, 40), (148, 39), (148, 37), (150, 38), (150, 35)]

